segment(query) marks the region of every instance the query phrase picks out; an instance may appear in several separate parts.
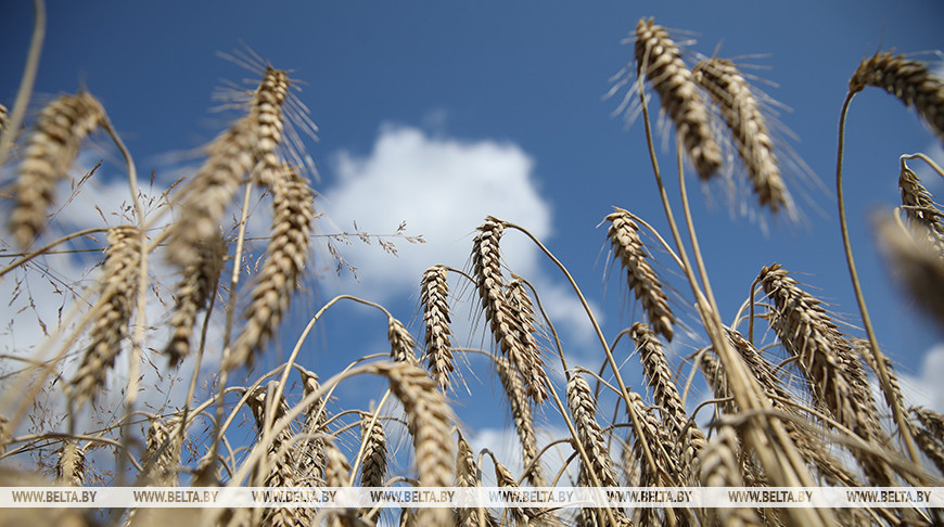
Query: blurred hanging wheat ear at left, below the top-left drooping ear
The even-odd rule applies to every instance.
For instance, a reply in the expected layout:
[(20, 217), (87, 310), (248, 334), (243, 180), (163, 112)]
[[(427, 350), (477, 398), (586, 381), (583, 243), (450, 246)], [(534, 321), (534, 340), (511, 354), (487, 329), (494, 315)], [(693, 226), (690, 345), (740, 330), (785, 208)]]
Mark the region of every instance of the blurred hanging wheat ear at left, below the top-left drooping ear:
[(122, 351), (138, 294), (142, 250), (138, 228), (114, 227), (109, 229), (107, 239), (102, 294), (93, 308), (99, 314), (89, 332), (91, 344), (72, 381), (76, 406), (94, 397), (105, 384), (105, 375)]

